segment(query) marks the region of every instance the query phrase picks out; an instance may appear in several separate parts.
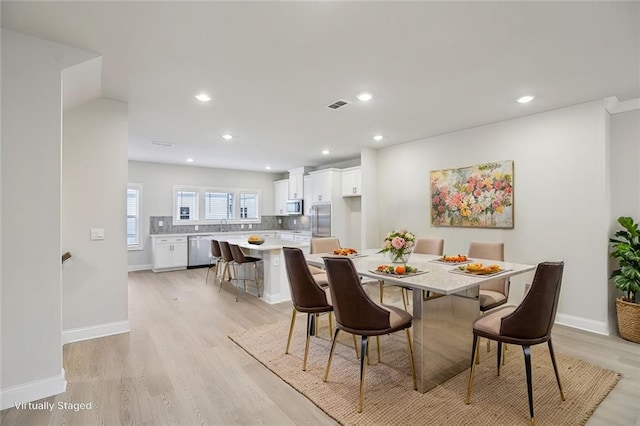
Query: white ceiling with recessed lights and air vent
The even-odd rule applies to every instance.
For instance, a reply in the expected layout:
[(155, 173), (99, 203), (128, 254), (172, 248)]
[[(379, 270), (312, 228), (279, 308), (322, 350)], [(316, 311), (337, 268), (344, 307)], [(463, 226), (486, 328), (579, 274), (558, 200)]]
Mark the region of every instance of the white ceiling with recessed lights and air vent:
[[(2, 1), (1, 13), (4, 28), (102, 55), (102, 96), (129, 104), (133, 160), (284, 171), (640, 97), (638, 2)], [(351, 104), (327, 108), (338, 99)]]

